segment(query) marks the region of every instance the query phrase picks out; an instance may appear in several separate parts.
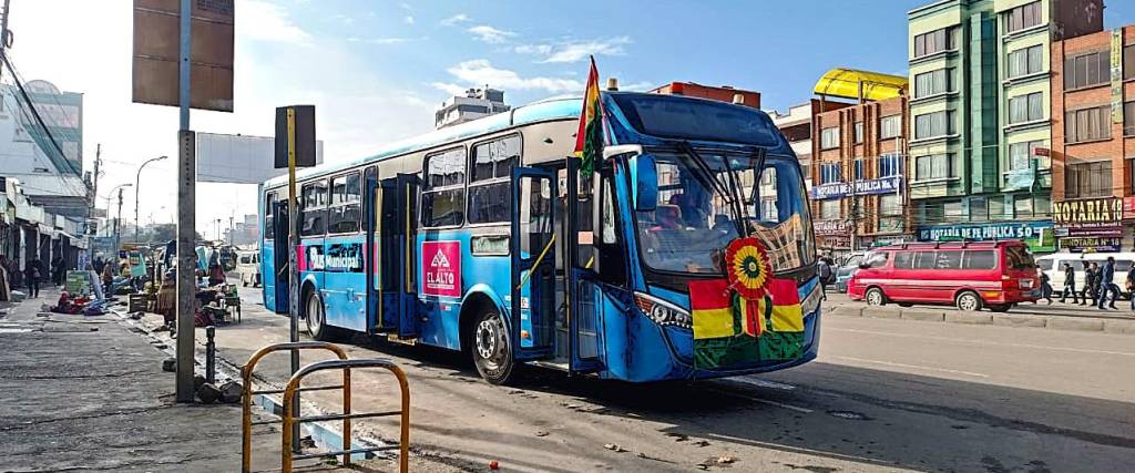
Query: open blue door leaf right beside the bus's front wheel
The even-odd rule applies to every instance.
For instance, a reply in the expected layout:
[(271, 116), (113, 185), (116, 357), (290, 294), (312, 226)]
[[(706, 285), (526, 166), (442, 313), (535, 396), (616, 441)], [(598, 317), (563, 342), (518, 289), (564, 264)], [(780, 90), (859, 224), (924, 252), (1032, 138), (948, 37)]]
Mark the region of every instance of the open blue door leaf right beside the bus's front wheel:
[(553, 355), (556, 316), (554, 179), (554, 174), (540, 169), (512, 170), (508, 326), (516, 360)]

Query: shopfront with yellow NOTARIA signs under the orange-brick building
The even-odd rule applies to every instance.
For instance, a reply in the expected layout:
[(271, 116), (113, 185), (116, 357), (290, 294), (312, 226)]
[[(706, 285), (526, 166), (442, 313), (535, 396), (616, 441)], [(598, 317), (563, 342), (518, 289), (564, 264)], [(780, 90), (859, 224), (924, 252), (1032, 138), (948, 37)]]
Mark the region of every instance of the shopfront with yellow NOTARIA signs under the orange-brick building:
[(1070, 253), (1111, 253), (1123, 251), (1124, 200), (1119, 197), (1079, 199), (1052, 203), (1060, 251)]

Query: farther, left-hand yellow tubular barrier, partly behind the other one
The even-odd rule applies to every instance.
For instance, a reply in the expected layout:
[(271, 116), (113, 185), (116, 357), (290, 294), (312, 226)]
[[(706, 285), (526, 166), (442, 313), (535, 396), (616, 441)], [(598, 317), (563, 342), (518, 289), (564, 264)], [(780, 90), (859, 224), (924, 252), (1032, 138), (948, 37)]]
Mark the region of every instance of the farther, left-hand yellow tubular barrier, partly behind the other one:
[[(241, 381), (244, 383), (244, 395), (241, 396), (242, 411), (241, 411), (241, 471), (244, 473), (252, 471), (252, 396), (253, 395), (268, 395), (268, 394), (284, 394), (285, 389), (268, 389), (262, 391), (252, 390), (252, 371), (255, 370), (257, 363), (260, 358), (272, 352), (279, 350), (297, 350), (297, 349), (326, 349), (334, 353), (339, 357), (340, 361), (347, 358), (347, 353), (340, 348), (338, 345), (328, 344), (326, 341), (293, 341), (286, 344), (274, 344), (260, 348), (257, 353), (253, 353), (249, 358), (249, 362), (241, 368)], [(343, 411), (344, 413), (351, 413), (351, 370), (343, 370), (343, 385), (340, 386), (319, 386), (312, 388), (301, 389), (303, 391), (316, 391), (316, 390), (328, 390), (328, 389), (343, 389)], [(293, 397), (300, 390), (293, 390), (285, 395), (284, 404), (285, 408), (289, 408)], [(287, 416), (291, 416), (291, 411), (287, 411)], [(275, 423), (276, 421), (259, 422), (259, 423)], [(291, 431), (288, 431), (288, 437), (291, 437)], [(343, 442), (344, 445), (351, 445), (351, 419), (343, 420)], [(292, 447), (288, 445), (285, 450), (291, 451)], [(347, 463), (350, 463), (350, 456), (347, 457)]]

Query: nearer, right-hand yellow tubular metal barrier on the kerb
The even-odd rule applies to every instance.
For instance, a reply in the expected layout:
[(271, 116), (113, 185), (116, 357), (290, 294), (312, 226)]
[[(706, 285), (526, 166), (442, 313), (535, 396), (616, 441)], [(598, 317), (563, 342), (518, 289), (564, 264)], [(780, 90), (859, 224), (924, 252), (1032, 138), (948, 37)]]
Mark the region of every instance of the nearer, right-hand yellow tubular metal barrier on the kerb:
[[(398, 379), (398, 389), (402, 392), (402, 408), (398, 411), (384, 411), (384, 412), (370, 412), (370, 413), (359, 413), (352, 414), (350, 407), (347, 407), (347, 402), (344, 404), (343, 414), (330, 414), (330, 415), (310, 415), (301, 416), (295, 419), (292, 416), (293, 403), (295, 403), (295, 394), (301, 390), (300, 382), (308, 374), (314, 373), (317, 371), (323, 370), (339, 370), (344, 372), (344, 392), (350, 396), (351, 392), (351, 380), (347, 374), (351, 369), (359, 368), (384, 368), (394, 373), (394, 377)], [(347, 398), (350, 399), (350, 398)], [(364, 447), (364, 448), (351, 448), (351, 438), (348, 430), (346, 430), (347, 423), (352, 419), (360, 417), (385, 417), (385, 416), (401, 416), (401, 436), (398, 438), (397, 446), (382, 446), (382, 447)], [(302, 422), (320, 422), (320, 421), (336, 421), (343, 420), (344, 423), (344, 434), (343, 434), (343, 449), (337, 451), (326, 451), (319, 454), (309, 455), (294, 455), (292, 451), (292, 425), (294, 423)], [(316, 458), (330, 455), (343, 455), (343, 463), (351, 463), (351, 455), (362, 454), (379, 450), (392, 450), (394, 448), (398, 449), (398, 471), (405, 473), (410, 471), (410, 385), (406, 382), (406, 374), (402, 372), (394, 362), (389, 360), (380, 358), (369, 358), (369, 360), (327, 360), (322, 362), (316, 362), (303, 366), (300, 371), (296, 371), (292, 375), (292, 379), (287, 382), (287, 388), (284, 389), (284, 438), (280, 444), (280, 470), (284, 473), (289, 473), (292, 471), (292, 462), (294, 459), (303, 458)]]

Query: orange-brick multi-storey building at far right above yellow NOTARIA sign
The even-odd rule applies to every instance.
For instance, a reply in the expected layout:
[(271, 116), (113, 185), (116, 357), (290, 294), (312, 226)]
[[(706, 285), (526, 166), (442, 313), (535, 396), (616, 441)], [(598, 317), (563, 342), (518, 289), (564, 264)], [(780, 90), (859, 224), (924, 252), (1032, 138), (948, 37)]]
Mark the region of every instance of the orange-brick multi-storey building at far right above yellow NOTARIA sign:
[[(1052, 219), (1062, 251), (1132, 251), (1135, 26), (1052, 44)], [(1132, 150), (1132, 151), (1128, 151)]]

